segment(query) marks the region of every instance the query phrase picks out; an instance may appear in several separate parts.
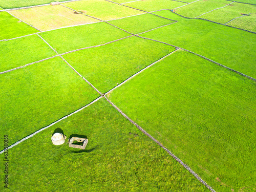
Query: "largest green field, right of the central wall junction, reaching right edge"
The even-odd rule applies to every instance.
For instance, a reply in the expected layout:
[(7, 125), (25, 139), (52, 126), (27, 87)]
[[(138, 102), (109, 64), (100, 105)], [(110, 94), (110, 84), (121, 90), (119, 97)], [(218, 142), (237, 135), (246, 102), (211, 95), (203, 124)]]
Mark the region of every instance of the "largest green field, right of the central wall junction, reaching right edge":
[(108, 97), (216, 191), (238, 191), (256, 178), (255, 95), (256, 82), (178, 51)]

